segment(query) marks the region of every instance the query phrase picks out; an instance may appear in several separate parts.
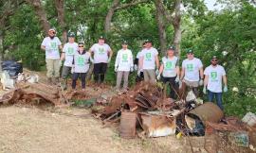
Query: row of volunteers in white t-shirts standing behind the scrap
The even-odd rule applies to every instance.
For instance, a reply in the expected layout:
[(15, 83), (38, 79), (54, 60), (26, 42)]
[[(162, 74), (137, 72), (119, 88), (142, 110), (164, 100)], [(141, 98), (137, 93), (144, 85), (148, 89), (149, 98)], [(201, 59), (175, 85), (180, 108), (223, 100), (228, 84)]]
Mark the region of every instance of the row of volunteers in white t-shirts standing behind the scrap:
[[(76, 89), (76, 82), (79, 76), (82, 80), (82, 90), (85, 89), (85, 76), (89, 70), (90, 62), (94, 64), (93, 74), (95, 82), (101, 84), (104, 81), (105, 73), (111, 61), (113, 51), (105, 39), (101, 36), (99, 41), (91, 46), (89, 51), (84, 50), (83, 42), (75, 42), (75, 34), (68, 34), (68, 42), (62, 43), (56, 37), (56, 30), (50, 28), (48, 37), (44, 39), (41, 48), (46, 51), (46, 69), (49, 83), (57, 83), (60, 76), (60, 67), (64, 61), (62, 71), (62, 87), (66, 89), (67, 76), (72, 73), (72, 89)], [(59, 50), (62, 50), (60, 56)], [(156, 79), (170, 84), (170, 97), (176, 98), (175, 91), (182, 82), (191, 87), (194, 93), (198, 93), (198, 87), (204, 86), (203, 93), (208, 93), (209, 101), (213, 101), (214, 96), (217, 105), (222, 106), (222, 92), (228, 92), (227, 77), (223, 66), (218, 64), (218, 59), (213, 56), (210, 59), (210, 66), (205, 71), (200, 59), (194, 57), (192, 50), (187, 51), (187, 59), (182, 61), (182, 68), (179, 68), (179, 59), (175, 56), (175, 48), (169, 47), (166, 56), (159, 62), (158, 51), (149, 40), (143, 43), (143, 48), (137, 53), (134, 60), (133, 53), (128, 49), (128, 42), (121, 44), (115, 61), (115, 72), (117, 73), (116, 90), (120, 90), (123, 80), (122, 90), (128, 89), (129, 74), (137, 71), (137, 81), (155, 83)], [(224, 84), (224, 89), (222, 90)]]

